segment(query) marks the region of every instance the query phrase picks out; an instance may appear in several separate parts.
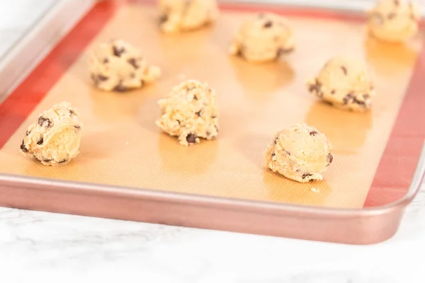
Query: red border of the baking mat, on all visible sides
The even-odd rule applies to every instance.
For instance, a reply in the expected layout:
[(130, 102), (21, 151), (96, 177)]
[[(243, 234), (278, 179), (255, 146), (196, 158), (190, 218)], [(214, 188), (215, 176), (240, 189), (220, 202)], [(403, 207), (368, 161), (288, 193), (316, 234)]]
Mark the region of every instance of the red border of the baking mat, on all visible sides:
[[(26, 120), (81, 52), (113, 16), (118, 4), (152, 3), (151, 0), (101, 1), (66, 35), (33, 72), (0, 105), (0, 149)], [(226, 10), (259, 11), (259, 6), (222, 4)], [(266, 11), (293, 16), (360, 21), (361, 17), (333, 11), (267, 6)], [(382, 154), (364, 207), (390, 204), (409, 189), (425, 138), (425, 46), (412, 74), (406, 96)], [(414, 129), (414, 130), (412, 130)]]

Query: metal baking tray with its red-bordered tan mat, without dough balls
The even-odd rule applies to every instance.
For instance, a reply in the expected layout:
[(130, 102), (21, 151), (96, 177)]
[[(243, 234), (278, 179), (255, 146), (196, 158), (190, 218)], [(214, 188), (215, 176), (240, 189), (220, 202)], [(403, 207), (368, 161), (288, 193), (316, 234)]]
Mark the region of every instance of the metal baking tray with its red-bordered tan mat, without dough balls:
[[(221, 1), (215, 25), (179, 35), (159, 33), (153, 1), (57, 2), (0, 62), (0, 205), (336, 243), (390, 238), (424, 179), (424, 37), (369, 38), (360, 1), (282, 2)], [(296, 52), (265, 64), (227, 54), (239, 24), (259, 11), (290, 19)], [(86, 54), (114, 37), (140, 47), (162, 78), (124, 94), (94, 89)], [(372, 111), (337, 110), (307, 93), (305, 81), (336, 54), (367, 62)], [(183, 147), (154, 125), (157, 100), (183, 79), (217, 91), (217, 140)], [(26, 128), (62, 100), (81, 112), (81, 154), (59, 167), (24, 158)], [(296, 122), (333, 144), (322, 182), (262, 166), (273, 134)]]

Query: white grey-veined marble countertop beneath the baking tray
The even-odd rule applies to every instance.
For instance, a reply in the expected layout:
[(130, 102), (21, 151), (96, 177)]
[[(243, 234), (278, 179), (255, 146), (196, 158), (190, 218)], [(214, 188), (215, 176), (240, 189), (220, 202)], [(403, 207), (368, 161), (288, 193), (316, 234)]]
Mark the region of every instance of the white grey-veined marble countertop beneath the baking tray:
[[(1, 0), (0, 56), (55, 0)], [(394, 238), (346, 246), (0, 207), (0, 282), (425, 282), (425, 186)]]

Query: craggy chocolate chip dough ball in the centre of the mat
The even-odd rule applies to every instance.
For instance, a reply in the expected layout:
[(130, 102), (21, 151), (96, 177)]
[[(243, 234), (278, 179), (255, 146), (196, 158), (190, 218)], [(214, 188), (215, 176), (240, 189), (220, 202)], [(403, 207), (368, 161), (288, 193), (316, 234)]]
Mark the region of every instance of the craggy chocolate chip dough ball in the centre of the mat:
[(198, 144), (200, 138), (214, 139), (218, 134), (215, 91), (206, 83), (183, 81), (158, 101), (161, 117), (157, 125), (183, 146)]

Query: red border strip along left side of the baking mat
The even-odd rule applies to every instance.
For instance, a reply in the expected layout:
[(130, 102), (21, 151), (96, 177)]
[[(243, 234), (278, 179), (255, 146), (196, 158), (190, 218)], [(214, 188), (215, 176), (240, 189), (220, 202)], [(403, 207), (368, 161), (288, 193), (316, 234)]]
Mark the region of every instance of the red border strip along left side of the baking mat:
[(114, 11), (115, 7), (108, 1), (96, 4), (0, 104), (0, 149), (101, 31)]

